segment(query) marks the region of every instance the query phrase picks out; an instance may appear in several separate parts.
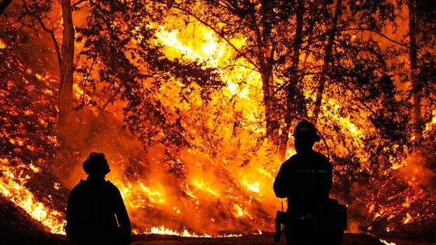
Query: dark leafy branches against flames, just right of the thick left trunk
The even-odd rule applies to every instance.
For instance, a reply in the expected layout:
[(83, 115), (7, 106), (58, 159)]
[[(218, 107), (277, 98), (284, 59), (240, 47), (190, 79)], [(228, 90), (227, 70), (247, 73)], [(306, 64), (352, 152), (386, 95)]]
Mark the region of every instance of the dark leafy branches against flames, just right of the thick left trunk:
[[(191, 89), (201, 89), (201, 99), (207, 101), (213, 89), (223, 82), (217, 80), (213, 68), (200, 61), (168, 59), (154, 34), (168, 12), (166, 6), (152, 2), (99, 1), (88, 3), (91, 17), (87, 27), (77, 28), (78, 40), (84, 41), (80, 53), (92, 60), (90, 67), (80, 67), (85, 74), (98, 63), (98, 81), (88, 77), (83, 82), (96, 91), (102, 82), (106, 93), (126, 101), (124, 120), (138, 133), (146, 145), (170, 142), (177, 146), (189, 144), (177, 114), (168, 111), (157, 98), (157, 92), (169, 81), (180, 82), (179, 96), (187, 101)], [(194, 88), (196, 87), (196, 88)], [(112, 101), (113, 102), (113, 98)], [(94, 103), (87, 101), (87, 103)], [(83, 104), (85, 105), (85, 104)]]

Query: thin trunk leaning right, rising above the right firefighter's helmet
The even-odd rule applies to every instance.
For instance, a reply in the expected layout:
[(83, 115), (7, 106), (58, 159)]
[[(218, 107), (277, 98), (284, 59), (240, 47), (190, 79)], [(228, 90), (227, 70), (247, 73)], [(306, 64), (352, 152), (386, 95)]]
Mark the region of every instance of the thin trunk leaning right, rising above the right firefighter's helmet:
[(332, 25), (330, 28), (330, 33), (328, 34), (328, 43), (324, 50), (324, 65), (321, 72), (321, 80), (319, 81), (317, 88), (317, 97), (315, 100), (314, 110), (312, 114), (312, 118), (314, 124), (317, 124), (319, 112), (321, 111), (321, 102), (324, 94), (324, 88), (326, 87), (326, 82), (328, 78), (328, 68), (330, 68), (330, 64), (332, 63), (332, 52), (333, 52), (333, 43), (335, 43), (335, 36), (337, 32), (337, 22), (339, 21), (339, 17), (341, 14), (342, 0), (336, 1), (335, 6), (335, 14), (333, 15)]

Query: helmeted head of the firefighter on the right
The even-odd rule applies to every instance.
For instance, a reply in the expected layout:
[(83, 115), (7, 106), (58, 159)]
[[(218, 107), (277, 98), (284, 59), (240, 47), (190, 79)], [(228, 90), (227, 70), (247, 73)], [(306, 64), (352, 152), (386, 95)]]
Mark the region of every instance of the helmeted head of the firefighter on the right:
[(315, 144), (321, 140), (317, 128), (310, 121), (300, 121), (293, 130), (295, 138), (294, 146), (297, 152), (310, 151)]

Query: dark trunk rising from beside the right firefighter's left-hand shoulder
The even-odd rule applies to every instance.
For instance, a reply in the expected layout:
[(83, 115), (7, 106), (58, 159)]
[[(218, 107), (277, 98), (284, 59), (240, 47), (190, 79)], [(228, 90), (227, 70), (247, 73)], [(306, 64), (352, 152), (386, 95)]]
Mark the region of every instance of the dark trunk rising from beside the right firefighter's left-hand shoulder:
[[(304, 24), (304, 2), (298, 1), (296, 12), (296, 36), (293, 42), (292, 64), (290, 69), (291, 77), (286, 88), (286, 113), (284, 114), (284, 128), (279, 139), (278, 156), (284, 160), (289, 140), (289, 129), (291, 128), (292, 119), (300, 116), (300, 110), (305, 112), (305, 108), (298, 108), (304, 101), (303, 89), (299, 89), (300, 76), (298, 75), (300, 64), (300, 48), (303, 41), (303, 24)], [(304, 103), (303, 103), (304, 104)], [(297, 107), (296, 107), (297, 106)]]

